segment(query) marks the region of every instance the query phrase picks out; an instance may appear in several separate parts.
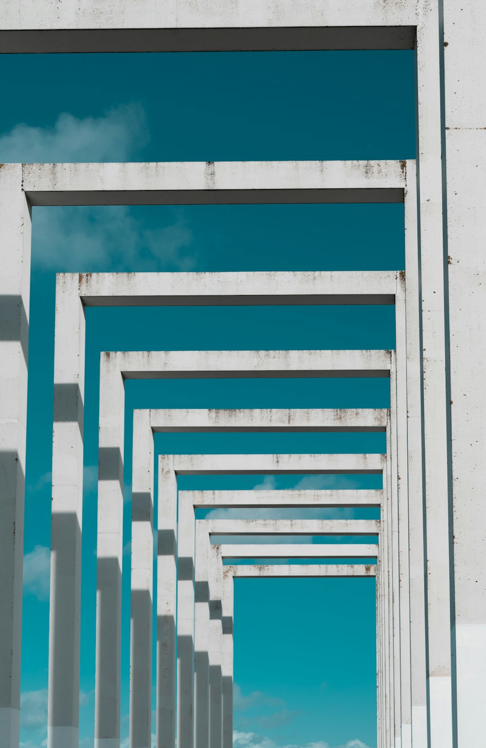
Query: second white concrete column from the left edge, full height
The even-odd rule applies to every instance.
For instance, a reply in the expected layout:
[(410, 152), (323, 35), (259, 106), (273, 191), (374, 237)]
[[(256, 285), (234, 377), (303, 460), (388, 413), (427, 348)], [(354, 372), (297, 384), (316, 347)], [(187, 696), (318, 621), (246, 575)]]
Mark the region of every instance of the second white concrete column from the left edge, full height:
[(49, 748), (76, 748), (79, 734), (84, 307), (78, 279), (56, 281), (52, 435)]

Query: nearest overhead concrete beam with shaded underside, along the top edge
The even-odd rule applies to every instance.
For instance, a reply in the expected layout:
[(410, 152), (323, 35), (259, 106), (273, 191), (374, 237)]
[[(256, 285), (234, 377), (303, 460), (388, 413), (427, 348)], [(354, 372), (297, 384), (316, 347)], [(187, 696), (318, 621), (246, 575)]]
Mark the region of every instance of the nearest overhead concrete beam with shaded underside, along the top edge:
[[(308, 0), (297, 6), (292, 0), (141, 0), (136, 8), (129, 0), (76, 6), (64, 0), (55, 9), (47, 0), (5, 0), (0, 42), (4, 52), (411, 49), (415, 25), (413, 0)], [(37, 31), (10, 31), (24, 29)]]

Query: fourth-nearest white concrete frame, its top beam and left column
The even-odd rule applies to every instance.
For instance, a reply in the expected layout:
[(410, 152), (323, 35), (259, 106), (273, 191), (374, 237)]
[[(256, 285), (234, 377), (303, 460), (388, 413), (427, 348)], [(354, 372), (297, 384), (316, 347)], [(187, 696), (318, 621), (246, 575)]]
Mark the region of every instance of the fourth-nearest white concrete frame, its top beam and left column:
[[(394, 358), (394, 352), (390, 351), (102, 353), (99, 396), (96, 744), (102, 741), (102, 744), (106, 745), (105, 741), (110, 740), (107, 735), (120, 735), (118, 705), (120, 703), (120, 582), (125, 379), (234, 375), (250, 377), (385, 375), (390, 377), (390, 386), (394, 390)], [(106, 622), (106, 616), (111, 619), (109, 625)], [(102, 619), (105, 620), (104, 627), (101, 625)], [(104, 631), (105, 636), (103, 636)], [(105, 687), (102, 687), (103, 681), (105, 681)], [(111, 748), (111, 744), (108, 744), (108, 748)]]

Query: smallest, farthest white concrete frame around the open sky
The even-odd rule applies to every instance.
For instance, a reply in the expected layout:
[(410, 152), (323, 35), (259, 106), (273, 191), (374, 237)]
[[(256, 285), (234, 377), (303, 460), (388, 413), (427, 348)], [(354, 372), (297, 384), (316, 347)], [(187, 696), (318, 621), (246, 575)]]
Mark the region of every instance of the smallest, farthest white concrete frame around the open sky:
[[(221, 548), (219, 549), (221, 555)], [(222, 748), (233, 747), (233, 580), (268, 578), (356, 578), (376, 577), (376, 566), (370, 564), (288, 564), (224, 565), (221, 585), (221, 701)], [(378, 605), (378, 588), (375, 584)], [(378, 637), (377, 637), (378, 648)], [(377, 705), (379, 699), (377, 657)], [(197, 701), (196, 701), (197, 704)], [(378, 715), (377, 715), (378, 717)], [(379, 725), (379, 720), (378, 720)], [(378, 727), (379, 731), (379, 727)], [(378, 738), (379, 740), (379, 738)]]

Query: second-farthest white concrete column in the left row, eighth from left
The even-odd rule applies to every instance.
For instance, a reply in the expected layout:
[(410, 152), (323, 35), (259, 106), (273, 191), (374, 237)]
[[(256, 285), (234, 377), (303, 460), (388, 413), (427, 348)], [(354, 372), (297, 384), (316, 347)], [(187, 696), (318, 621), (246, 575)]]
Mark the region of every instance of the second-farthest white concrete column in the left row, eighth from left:
[(209, 545), (209, 748), (222, 748), (223, 741), (222, 586), (221, 546)]

